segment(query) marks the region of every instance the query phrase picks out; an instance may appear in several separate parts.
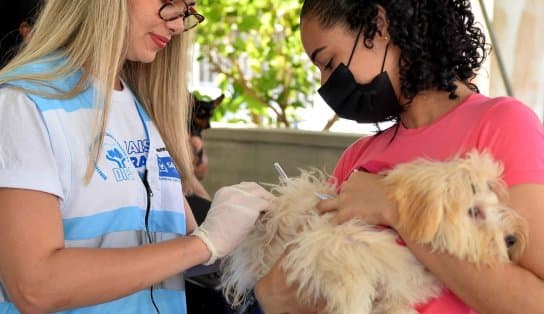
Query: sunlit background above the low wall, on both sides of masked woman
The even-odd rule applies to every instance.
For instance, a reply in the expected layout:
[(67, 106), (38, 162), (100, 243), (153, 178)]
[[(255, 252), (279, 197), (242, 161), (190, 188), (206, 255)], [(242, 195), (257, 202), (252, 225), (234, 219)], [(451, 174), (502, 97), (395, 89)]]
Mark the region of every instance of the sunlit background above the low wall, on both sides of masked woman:
[[(316, 90), (317, 69), (299, 40), (300, 0), (199, 0), (193, 87), (226, 93), (215, 122), (366, 134), (339, 120)], [(544, 114), (544, 1), (472, 0), (492, 51), (476, 83), (490, 96), (512, 94)], [(485, 9), (485, 10), (484, 10)], [(493, 40), (491, 40), (493, 39)], [(500, 57), (500, 59), (498, 58)], [(215, 89), (215, 91), (214, 91)]]

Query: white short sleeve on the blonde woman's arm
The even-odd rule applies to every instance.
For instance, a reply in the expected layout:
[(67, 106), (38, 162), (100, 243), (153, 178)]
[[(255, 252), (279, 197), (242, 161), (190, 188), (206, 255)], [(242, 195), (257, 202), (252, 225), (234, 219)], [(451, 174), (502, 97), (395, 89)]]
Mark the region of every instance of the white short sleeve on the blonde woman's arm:
[(0, 88), (0, 188), (63, 198), (57, 164), (41, 113), (24, 93)]

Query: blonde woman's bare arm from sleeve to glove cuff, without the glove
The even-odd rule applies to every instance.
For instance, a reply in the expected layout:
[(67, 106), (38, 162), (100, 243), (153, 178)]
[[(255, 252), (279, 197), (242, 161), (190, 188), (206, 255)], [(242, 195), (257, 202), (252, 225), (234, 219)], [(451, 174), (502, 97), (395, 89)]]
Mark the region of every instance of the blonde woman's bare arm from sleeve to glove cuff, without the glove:
[(58, 199), (0, 189), (0, 279), (23, 313), (98, 304), (206, 261), (197, 237), (123, 249), (64, 248)]

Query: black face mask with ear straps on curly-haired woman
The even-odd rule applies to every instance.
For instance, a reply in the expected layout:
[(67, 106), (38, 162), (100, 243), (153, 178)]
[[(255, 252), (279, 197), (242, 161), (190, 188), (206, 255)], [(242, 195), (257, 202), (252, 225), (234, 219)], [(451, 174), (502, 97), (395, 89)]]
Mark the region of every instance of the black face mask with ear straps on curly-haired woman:
[(341, 63), (327, 82), (319, 88), (318, 93), (341, 118), (360, 123), (395, 120), (403, 108), (399, 104), (387, 72), (383, 71), (389, 45), (385, 48), (381, 73), (370, 83), (359, 84), (348, 68), (359, 37), (360, 31), (351, 51), (348, 65)]

